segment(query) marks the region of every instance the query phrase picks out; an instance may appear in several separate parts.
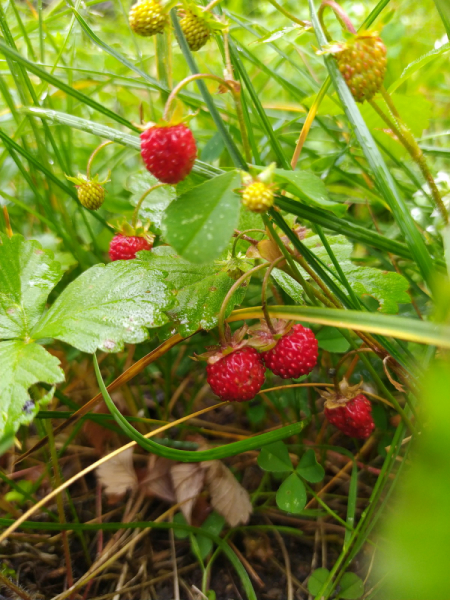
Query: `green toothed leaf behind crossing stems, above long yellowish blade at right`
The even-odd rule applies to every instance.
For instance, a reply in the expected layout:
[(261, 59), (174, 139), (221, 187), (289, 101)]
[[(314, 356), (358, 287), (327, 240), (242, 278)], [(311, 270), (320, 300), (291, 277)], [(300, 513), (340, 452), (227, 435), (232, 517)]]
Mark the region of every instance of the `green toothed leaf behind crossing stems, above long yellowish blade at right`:
[[(398, 312), (399, 303), (409, 304), (411, 302), (411, 298), (407, 294), (409, 284), (404, 277), (393, 271), (361, 267), (352, 263), (350, 257), (353, 246), (343, 235), (328, 236), (328, 242), (354, 292), (361, 297), (372, 296), (375, 298), (380, 305), (380, 312), (396, 313)], [(319, 236), (314, 235), (306, 238), (303, 243), (337, 275)], [(303, 276), (308, 279), (309, 275), (306, 271), (301, 268), (300, 270)], [(277, 277), (279, 277), (278, 274)], [(282, 287), (293, 300), (296, 300), (296, 297), (292, 296), (286, 287)]]

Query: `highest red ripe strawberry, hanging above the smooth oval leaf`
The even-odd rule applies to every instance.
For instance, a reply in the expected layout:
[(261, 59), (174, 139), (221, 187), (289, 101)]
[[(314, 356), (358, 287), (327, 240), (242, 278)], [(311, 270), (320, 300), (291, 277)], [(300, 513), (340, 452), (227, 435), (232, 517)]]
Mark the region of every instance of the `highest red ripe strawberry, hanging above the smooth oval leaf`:
[(141, 155), (152, 175), (163, 183), (176, 184), (191, 172), (197, 146), (186, 125), (155, 125), (141, 133)]

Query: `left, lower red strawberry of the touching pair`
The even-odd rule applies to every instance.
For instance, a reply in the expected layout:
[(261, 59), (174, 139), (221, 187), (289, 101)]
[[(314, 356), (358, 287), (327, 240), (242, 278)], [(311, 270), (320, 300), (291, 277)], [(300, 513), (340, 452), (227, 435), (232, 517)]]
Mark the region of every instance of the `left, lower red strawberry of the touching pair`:
[(264, 383), (266, 368), (261, 355), (245, 346), (206, 366), (207, 381), (221, 400), (251, 400)]

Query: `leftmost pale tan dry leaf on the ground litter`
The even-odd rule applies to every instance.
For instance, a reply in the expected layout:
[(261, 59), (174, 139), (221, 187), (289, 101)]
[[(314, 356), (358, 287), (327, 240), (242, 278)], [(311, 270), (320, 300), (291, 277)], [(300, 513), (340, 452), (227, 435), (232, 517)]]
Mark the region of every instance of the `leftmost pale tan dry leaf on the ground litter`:
[(138, 481), (133, 466), (133, 448), (100, 465), (96, 474), (107, 496), (123, 496), (127, 490), (135, 490)]

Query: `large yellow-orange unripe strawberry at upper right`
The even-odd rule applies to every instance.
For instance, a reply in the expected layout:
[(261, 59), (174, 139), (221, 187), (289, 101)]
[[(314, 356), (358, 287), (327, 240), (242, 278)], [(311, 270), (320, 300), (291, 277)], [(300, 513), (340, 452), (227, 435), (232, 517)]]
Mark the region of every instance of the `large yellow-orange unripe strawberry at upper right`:
[(333, 54), (356, 102), (371, 100), (383, 85), (386, 46), (376, 33), (355, 35)]

